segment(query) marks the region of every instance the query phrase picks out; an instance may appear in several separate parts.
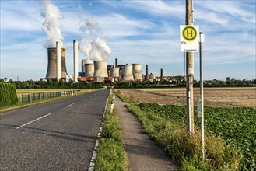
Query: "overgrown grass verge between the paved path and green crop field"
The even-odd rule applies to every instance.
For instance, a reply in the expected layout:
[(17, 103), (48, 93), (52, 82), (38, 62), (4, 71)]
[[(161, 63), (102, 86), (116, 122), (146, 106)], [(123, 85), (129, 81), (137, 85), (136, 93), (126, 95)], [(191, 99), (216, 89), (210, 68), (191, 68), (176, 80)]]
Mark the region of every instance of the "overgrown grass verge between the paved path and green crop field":
[(226, 142), (216, 138), (213, 134), (205, 137), (205, 160), (201, 158), (200, 131), (195, 128), (193, 137), (189, 136), (186, 127), (172, 120), (154, 113), (143, 111), (138, 103), (117, 95), (126, 103), (127, 107), (142, 123), (143, 131), (156, 141), (163, 150), (181, 165), (180, 170), (237, 170), (240, 166), (241, 155)]

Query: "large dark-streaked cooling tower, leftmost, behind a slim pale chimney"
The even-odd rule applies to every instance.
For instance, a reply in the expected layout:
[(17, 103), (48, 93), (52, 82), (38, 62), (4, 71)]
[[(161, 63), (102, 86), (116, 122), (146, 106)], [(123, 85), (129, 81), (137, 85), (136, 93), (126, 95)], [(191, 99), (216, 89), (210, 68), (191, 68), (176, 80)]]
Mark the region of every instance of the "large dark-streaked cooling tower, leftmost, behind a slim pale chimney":
[[(48, 66), (47, 66), (47, 73), (46, 79), (56, 79), (57, 78), (57, 52), (56, 48), (48, 48)], [(65, 60), (65, 49), (61, 48), (61, 78), (65, 78), (67, 74), (66, 69), (66, 60)]]

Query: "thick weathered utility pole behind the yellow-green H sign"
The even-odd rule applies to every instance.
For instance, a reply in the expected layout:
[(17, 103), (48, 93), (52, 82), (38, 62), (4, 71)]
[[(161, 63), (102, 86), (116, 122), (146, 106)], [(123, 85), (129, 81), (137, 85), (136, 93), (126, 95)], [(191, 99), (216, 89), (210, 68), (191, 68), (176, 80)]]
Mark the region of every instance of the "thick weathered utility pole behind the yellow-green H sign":
[[(186, 0), (186, 25), (193, 25), (192, 0)], [(187, 68), (187, 129), (189, 134), (194, 134), (194, 96), (193, 96), (193, 80), (194, 80), (194, 54), (186, 52), (186, 68)]]

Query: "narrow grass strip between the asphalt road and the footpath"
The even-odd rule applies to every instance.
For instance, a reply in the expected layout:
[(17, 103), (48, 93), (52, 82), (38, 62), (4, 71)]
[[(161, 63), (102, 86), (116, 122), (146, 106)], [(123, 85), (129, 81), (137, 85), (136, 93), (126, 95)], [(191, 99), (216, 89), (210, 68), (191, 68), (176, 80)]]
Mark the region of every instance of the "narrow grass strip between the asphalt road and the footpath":
[(128, 170), (127, 155), (122, 142), (121, 128), (117, 117), (117, 110), (114, 107), (110, 114), (110, 101), (113, 95), (109, 96), (107, 112), (104, 118), (103, 131), (100, 138), (100, 145), (97, 148), (95, 170)]

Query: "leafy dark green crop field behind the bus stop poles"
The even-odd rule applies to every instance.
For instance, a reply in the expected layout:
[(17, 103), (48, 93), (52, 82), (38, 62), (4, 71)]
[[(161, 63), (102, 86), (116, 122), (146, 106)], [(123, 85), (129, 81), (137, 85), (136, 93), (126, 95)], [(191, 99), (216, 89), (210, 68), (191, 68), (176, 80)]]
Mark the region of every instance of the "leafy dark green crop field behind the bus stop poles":
[[(141, 103), (146, 112), (153, 112), (160, 117), (186, 126), (186, 107)], [(195, 110), (195, 114), (197, 111)], [(222, 138), (227, 145), (236, 148), (244, 155), (241, 170), (256, 170), (256, 109), (255, 108), (223, 108), (205, 107), (205, 130)], [(195, 126), (200, 127), (200, 120), (195, 117)]]

